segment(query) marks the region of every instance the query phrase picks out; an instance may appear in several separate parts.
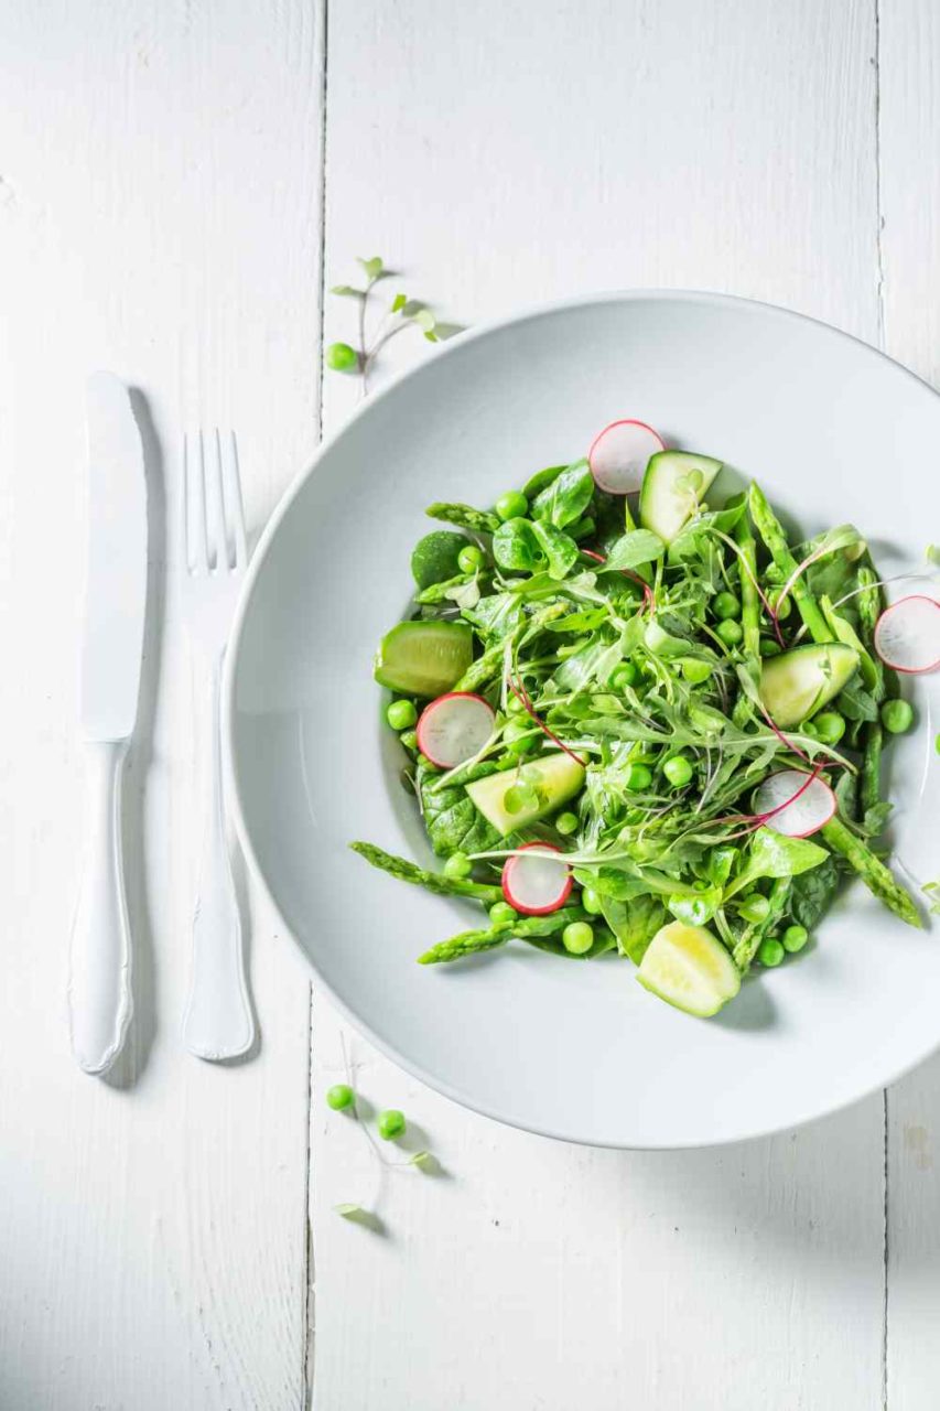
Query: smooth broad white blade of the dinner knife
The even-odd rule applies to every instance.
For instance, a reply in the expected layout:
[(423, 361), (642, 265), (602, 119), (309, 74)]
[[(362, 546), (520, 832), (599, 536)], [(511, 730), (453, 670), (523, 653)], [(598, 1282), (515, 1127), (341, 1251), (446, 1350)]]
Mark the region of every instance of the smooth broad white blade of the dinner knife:
[(86, 739), (128, 739), (137, 720), (147, 602), (147, 480), (140, 430), (113, 373), (88, 380)]

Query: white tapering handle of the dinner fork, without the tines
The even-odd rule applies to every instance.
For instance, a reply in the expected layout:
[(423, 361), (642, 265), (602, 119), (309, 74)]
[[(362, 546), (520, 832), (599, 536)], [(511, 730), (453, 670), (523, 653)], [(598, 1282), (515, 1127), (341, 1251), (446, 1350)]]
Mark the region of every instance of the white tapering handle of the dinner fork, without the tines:
[(202, 835), (199, 892), (192, 923), (192, 975), (183, 1043), (198, 1058), (237, 1058), (254, 1043), (241, 947), (241, 916), (226, 838), (222, 768), (222, 658), (212, 663), (209, 691), (209, 789)]

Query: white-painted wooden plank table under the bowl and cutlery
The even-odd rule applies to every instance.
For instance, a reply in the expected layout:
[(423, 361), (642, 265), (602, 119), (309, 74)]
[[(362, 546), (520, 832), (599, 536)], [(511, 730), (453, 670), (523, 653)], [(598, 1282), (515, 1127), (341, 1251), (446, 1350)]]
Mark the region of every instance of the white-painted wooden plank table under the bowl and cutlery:
[[(237, 426), (260, 526), (347, 413), (320, 347), (351, 309), (323, 288), (356, 254), (466, 323), (728, 289), (937, 380), (939, 131), (932, 0), (0, 8), (3, 1411), (936, 1411), (937, 1062), (773, 1140), (613, 1153), (466, 1113), (350, 1034), (363, 1091), (450, 1173), (377, 1192), (323, 1102), (342, 1026), (257, 900), (260, 1053), (186, 1057), (193, 744), (161, 516), (185, 425)], [(398, 365), (423, 356), (398, 340)], [(64, 1023), (96, 365), (144, 394), (165, 484), (128, 792), (138, 1016), (109, 1082)], [(356, 1199), (384, 1237), (333, 1213)]]

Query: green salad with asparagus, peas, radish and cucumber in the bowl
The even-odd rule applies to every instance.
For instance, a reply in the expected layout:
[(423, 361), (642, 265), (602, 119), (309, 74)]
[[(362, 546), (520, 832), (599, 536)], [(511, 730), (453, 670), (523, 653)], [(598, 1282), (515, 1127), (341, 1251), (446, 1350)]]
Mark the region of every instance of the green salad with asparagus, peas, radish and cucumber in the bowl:
[(493, 508), (428, 508), (452, 528), (415, 546), (374, 676), (442, 866), (353, 844), (480, 904), (421, 964), (622, 957), (704, 1017), (803, 951), (850, 875), (922, 924), (878, 842), (913, 718), (878, 634), (909, 652), (906, 614), (852, 525), (800, 542), (740, 484), (617, 422)]

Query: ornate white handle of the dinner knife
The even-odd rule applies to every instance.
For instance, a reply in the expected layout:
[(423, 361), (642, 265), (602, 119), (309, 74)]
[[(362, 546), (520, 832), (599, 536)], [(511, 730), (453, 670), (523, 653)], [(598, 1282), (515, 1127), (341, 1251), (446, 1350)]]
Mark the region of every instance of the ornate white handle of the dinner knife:
[(121, 858), (126, 739), (88, 745), (85, 872), (72, 928), (69, 1023), (85, 1072), (107, 1072), (130, 1024), (131, 951)]

